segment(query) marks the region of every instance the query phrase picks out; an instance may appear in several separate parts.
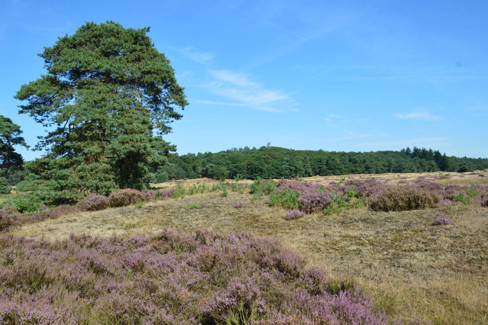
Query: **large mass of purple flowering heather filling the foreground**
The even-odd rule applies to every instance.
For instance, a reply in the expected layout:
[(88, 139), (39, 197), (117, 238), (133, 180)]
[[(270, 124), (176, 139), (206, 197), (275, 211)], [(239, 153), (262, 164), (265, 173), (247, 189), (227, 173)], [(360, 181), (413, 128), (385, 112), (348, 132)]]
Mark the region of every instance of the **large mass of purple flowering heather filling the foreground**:
[(246, 233), (163, 229), (58, 242), (0, 234), (0, 243), (14, 256), (0, 264), (1, 324), (387, 322), (361, 290), (337, 286), (277, 242)]

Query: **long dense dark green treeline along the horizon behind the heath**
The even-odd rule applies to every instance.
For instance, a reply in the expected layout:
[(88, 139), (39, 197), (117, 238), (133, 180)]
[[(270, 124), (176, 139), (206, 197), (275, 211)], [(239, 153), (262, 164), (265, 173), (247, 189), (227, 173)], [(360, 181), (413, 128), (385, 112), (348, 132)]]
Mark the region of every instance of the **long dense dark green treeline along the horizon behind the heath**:
[(328, 152), (280, 147), (232, 148), (217, 153), (169, 154), (168, 164), (151, 174), (151, 182), (168, 179), (293, 178), (349, 173), (410, 173), (488, 168), (486, 158), (448, 157), (439, 150), (414, 147), (400, 151)]

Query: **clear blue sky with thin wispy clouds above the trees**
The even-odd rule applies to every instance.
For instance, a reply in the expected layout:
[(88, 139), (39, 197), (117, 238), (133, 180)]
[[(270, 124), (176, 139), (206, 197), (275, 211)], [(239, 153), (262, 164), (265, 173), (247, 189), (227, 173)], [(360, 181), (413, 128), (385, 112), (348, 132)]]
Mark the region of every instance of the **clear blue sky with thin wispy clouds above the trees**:
[[(81, 5), (82, 3), (82, 5)], [(178, 152), (425, 146), (488, 156), (488, 1), (0, 1), (0, 114), (84, 21), (151, 26), (190, 105)], [(40, 152), (22, 150), (26, 159)]]

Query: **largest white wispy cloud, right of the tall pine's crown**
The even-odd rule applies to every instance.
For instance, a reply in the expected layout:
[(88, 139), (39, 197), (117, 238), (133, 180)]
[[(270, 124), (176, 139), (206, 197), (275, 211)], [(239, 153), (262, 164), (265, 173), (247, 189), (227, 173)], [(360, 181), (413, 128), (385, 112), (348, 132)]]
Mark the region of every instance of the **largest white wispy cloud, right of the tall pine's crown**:
[(279, 90), (264, 88), (260, 83), (250, 80), (250, 76), (228, 70), (210, 71), (214, 80), (202, 84), (202, 87), (213, 93), (239, 102), (243, 106), (251, 106), (268, 112), (281, 112), (270, 107), (274, 102), (289, 100), (290, 96)]

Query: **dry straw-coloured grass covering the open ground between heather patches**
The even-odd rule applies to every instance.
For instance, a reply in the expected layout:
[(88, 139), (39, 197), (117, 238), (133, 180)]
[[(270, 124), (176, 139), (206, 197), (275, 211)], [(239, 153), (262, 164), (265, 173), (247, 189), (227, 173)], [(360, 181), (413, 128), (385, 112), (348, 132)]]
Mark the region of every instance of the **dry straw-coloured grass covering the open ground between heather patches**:
[[(436, 174), (442, 176), (422, 176)], [(396, 175), (374, 177), (419, 176)], [(477, 175), (450, 173), (449, 177), (453, 183), (485, 181)], [(328, 183), (339, 178), (309, 179)], [(149, 203), (140, 209), (68, 215), (27, 224), (13, 232), (35, 238), (61, 238), (71, 231), (130, 236), (154, 233), (168, 225), (270, 235), (307, 255), (310, 264), (325, 269), (331, 277), (350, 277), (363, 285), (377, 307), (392, 318), (421, 317), (434, 324), (488, 324), (487, 208), (444, 207), (442, 211), (453, 221), (447, 226), (430, 225), (439, 209), (386, 213), (365, 208), (286, 221), (285, 210), (271, 208), (264, 200), (251, 200), (250, 195), (235, 192), (224, 198), (219, 194)], [(246, 202), (247, 207), (236, 209), (235, 201)], [(192, 203), (198, 208), (190, 208)]]

